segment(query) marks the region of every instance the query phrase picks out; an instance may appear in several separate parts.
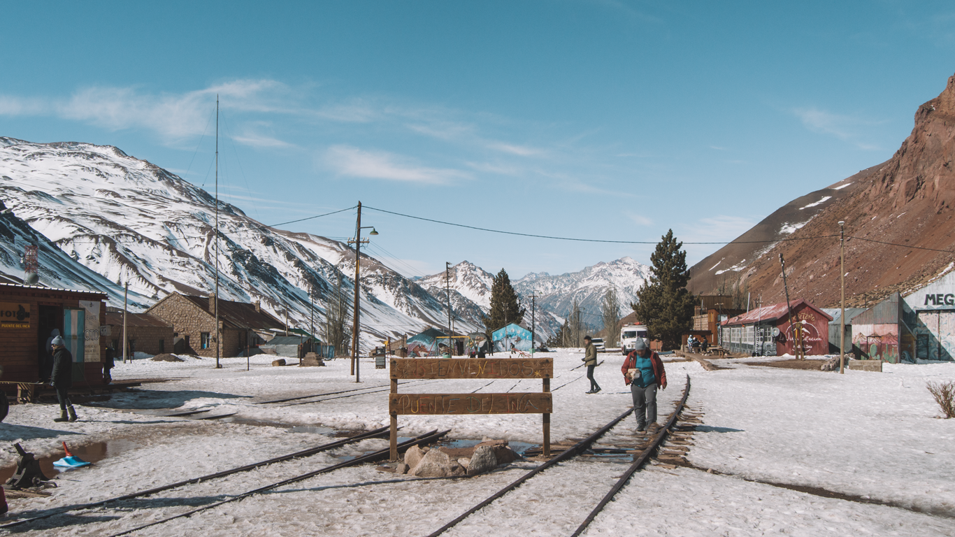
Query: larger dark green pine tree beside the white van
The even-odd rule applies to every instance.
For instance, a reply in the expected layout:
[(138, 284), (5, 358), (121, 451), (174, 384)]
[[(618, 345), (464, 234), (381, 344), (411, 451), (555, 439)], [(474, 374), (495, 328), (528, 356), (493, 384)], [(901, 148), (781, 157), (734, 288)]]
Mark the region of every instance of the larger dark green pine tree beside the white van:
[(647, 325), (650, 337), (660, 339), (664, 349), (679, 346), (680, 335), (690, 329), (693, 315), (693, 295), (687, 290), (687, 252), (680, 247), (683, 243), (668, 230), (650, 255), (652, 273), (637, 290), (638, 302), (630, 305)]

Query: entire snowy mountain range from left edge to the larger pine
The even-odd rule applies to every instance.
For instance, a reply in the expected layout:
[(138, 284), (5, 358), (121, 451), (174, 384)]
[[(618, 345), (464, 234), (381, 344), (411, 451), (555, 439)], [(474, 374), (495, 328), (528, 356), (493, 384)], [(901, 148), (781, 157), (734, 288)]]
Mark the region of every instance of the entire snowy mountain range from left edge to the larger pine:
[[(172, 291), (206, 295), (215, 288), (215, 199), (116, 147), (0, 138), (0, 197), (12, 209), (0, 215), (0, 270), (14, 278), (23, 274), (24, 247), (38, 244), (42, 284), (103, 290), (113, 306), (122, 306), (127, 281), (136, 311)], [(261, 300), (267, 311), (280, 319), (287, 313), (291, 325), (304, 329), (312, 303), (316, 325), (324, 319), (339, 279), (350, 303), (354, 250), (347, 245), (264, 226), (222, 201), (218, 235), (223, 298)], [(600, 299), (613, 287), (628, 305), (647, 269), (624, 258), (560, 276), (531, 274), (513, 283), (528, 309), (530, 293), (537, 294), (537, 327), (547, 337), (574, 298), (589, 315), (599, 311)], [(441, 272), (412, 280), (362, 254), (363, 347), (429, 326), (445, 329), (445, 279)], [(491, 273), (467, 261), (450, 270), (457, 332), (482, 330), (492, 281)], [(598, 318), (586, 320), (599, 328)]]

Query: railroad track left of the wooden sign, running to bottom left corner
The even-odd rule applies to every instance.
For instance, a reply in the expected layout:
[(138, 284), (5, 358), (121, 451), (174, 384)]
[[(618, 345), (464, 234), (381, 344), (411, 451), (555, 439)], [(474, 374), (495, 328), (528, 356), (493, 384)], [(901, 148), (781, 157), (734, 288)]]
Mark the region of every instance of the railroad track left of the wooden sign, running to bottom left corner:
[[(406, 451), (408, 448), (412, 447), (413, 445), (424, 445), (424, 444), (428, 444), (428, 443), (434, 443), (435, 441), (439, 440), (441, 437), (443, 437), (444, 435), (446, 435), (448, 432), (449, 432), (449, 431), (437, 432), (437, 430), (435, 429), (434, 431), (431, 431), (431, 432), (426, 433), (426, 434), (424, 434), (424, 435), (420, 435), (420, 436), (414, 437), (414, 438), (411, 439), (411, 440), (403, 441), (403, 442), (401, 442), (401, 443), (398, 444), (398, 451), (403, 453), (404, 451)], [(329, 443), (326, 443), (326, 444), (322, 444), (322, 445), (319, 445), (319, 446), (316, 446), (316, 447), (312, 447), (312, 448), (309, 448), (309, 449), (305, 449), (305, 450), (302, 450), (302, 451), (297, 451), (297, 452), (295, 452), (295, 453), (290, 453), (290, 454), (285, 455), (285, 456), (282, 456), (282, 457), (276, 457), (276, 458), (274, 458), (274, 459), (269, 459), (269, 460), (262, 461), (262, 462), (254, 462), (254, 463), (251, 463), (251, 464), (245, 464), (244, 466), (239, 466), (239, 467), (237, 467), (237, 468), (232, 468), (232, 469), (229, 469), (229, 470), (223, 470), (223, 471), (221, 471), (221, 472), (216, 472), (216, 473), (208, 474), (208, 475), (205, 475), (205, 476), (202, 476), (202, 477), (192, 478), (192, 479), (189, 479), (189, 480), (184, 480), (184, 481), (180, 481), (180, 482), (177, 482), (177, 483), (169, 483), (169, 484), (165, 484), (165, 485), (162, 485), (162, 486), (158, 486), (158, 487), (154, 487), (154, 488), (149, 488), (149, 489), (146, 489), (146, 490), (141, 490), (141, 491), (138, 491), (138, 492), (135, 492), (135, 493), (132, 493), (132, 494), (125, 494), (125, 495), (122, 495), (122, 496), (117, 496), (117, 497), (115, 497), (115, 498), (110, 498), (110, 499), (107, 499), (107, 500), (101, 500), (101, 501), (99, 501), (99, 502), (94, 502), (94, 503), (90, 503), (90, 504), (82, 504), (82, 505), (74, 505), (74, 506), (71, 506), (71, 507), (61, 508), (61, 509), (54, 509), (53, 511), (48, 512), (48, 513), (44, 513), (44, 514), (42, 514), (42, 515), (37, 515), (37, 516), (25, 518), (25, 519), (19, 519), (19, 520), (14, 520), (14, 521), (12, 521), (12, 522), (8, 522), (8, 523), (6, 523), (6, 524), (0, 525), (0, 529), (10, 529), (10, 528), (16, 527), (16, 526), (30, 525), (30, 524), (32, 524), (32, 523), (36, 523), (36, 522), (39, 522), (39, 521), (42, 521), (42, 520), (47, 520), (47, 519), (50, 519), (50, 518), (53, 518), (53, 517), (56, 517), (56, 516), (75, 515), (75, 514), (78, 514), (80, 511), (86, 511), (86, 510), (89, 510), (89, 509), (104, 508), (104, 507), (109, 508), (109, 507), (111, 507), (111, 505), (112, 505), (113, 507), (117, 507), (117, 506), (118, 506), (117, 504), (121, 504), (121, 503), (123, 503), (123, 502), (128, 502), (128, 501), (130, 501), (130, 500), (135, 500), (135, 499), (138, 499), (138, 498), (145, 498), (145, 497), (152, 496), (152, 495), (154, 495), (154, 494), (158, 494), (159, 492), (163, 492), (163, 491), (166, 491), (166, 490), (172, 490), (172, 489), (175, 489), (175, 488), (180, 488), (180, 487), (187, 486), (187, 485), (190, 485), (190, 484), (195, 484), (195, 483), (205, 483), (205, 482), (208, 482), (208, 481), (211, 481), (211, 480), (221, 479), (221, 478), (223, 478), (223, 477), (230, 476), (230, 475), (233, 475), (233, 474), (237, 474), (237, 473), (241, 473), (241, 472), (247, 472), (247, 471), (249, 471), (249, 470), (254, 470), (254, 469), (256, 469), (256, 468), (260, 468), (260, 467), (263, 467), (263, 466), (266, 466), (266, 465), (270, 465), (270, 464), (275, 464), (275, 463), (280, 463), (280, 462), (291, 461), (291, 460), (294, 460), (294, 459), (301, 459), (301, 458), (305, 458), (305, 457), (310, 457), (310, 456), (312, 456), (312, 455), (315, 455), (315, 454), (318, 454), (318, 453), (321, 453), (321, 452), (324, 452), (324, 451), (329, 451), (329, 450), (331, 450), (331, 449), (336, 449), (336, 448), (339, 448), (339, 447), (343, 447), (343, 446), (345, 446), (345, 445), (348, 445), (348, 444), (351, 444), (351, 443), (356, 443), (356, 442), (361, 441), (361, 440), (368, 440), (368, 439), (374, 439), (374, 438), (384, 438), (384, 437), (387, 437), (388, 434), (389, 434), (389, 428), (388, 428), (388, 427), (381, 427), (381, 428), (379, 428), (379, 429), (375, 429), (375, 430), (369, 431), (369, 432), (367, 432), (367, 433), (362, 433), (362, 434), (360, 434), (360, 435), (356, 435), (356, 436), (351, 437), (351, 438), (349, 438), (349, 439), (336, 440), (336, 441), (333, 441), (333, 442), (329, 442)], [(229, 496), (229, 497), (227, 497), (226, 499), (224, 499), (224, 500), (222, 500), (222, 501), (215, 502), (215, 503), (210, 504), (210, 505), (203, 505), (202, 507), (199, 507), (199, 508), (190, 510), (190, 511), (188, 511), (188, 512), (184, 512), (184, 513), (180, 513), (180, 514), (177, 514), (177, 515), (168, 517), (168, 518), (164, 518), (164, 519), (161, 519), (161, 520), (159, 520), (159, 521), (155, 521), (155, 522), (153, 522), (153, 523), (150, 523), (150, 524), (147, 524), (147, 525), (144, 525), (144, 526), (137, 526), (137, 527), (129, 528), (129, 529), (123, 530), (123, 531), (121, 531), (121, 532), (119, 532), (119, 533), (117, 533), (117, 534), (115, 534), (115, 535), (126, 535), (127, 533), (131, 533), (131, 532), (133, 532), (133, 531), (137, 531), (137, 530), (143, 529), (143, 528), (145, 528), (145, 527), (157, 526), (157, 525), (159, 525), (159, 524), (164, 524), (164, 523), (166, 523), (166, 522), (169, 522), (169, 521), (172, 521), (172, 520), (176, 520), (176, 519), (179, 519), (179, 518), (182, 518), (182, 517), (191, 516), (192, 514), (195, 514), (195, 513), (197, 513), (197, 512), (200, 512), (200, 511), (203, 511), (203, 510), (206, 510), (206, 509), (214, 508), (214, 507), (217, 507), (217, 506), (219, 506), (219, 505), (223, 505), (223, 504), (227, 504), (227, 503), (234, 502), (234, 501), (237, 501), (237, 500), (241, 500), (241, 499), (247, 498), (247, 497), (249, 497), (249, 496), (253, 496), (253, 495), (255, 495), (255, 494), (261, 494), (261, 493), (266, 492), (266, 491), (268, 491), (268, 490), (272, 490), (272, 489), (274, 489), (274, 488), (277, 488), (277, 487), (280, 487), (280, 486), (283, 486), (283, 485), (286, 485), (286, 484), (289, 484), (289, 483), (296, 483), (296, 482), (299, 482), (299, 481), (303, 481), (303, 480), (306, 480), (306, 479), (308, 479), (308, 478), (317, 476), (317, 475), (319, 475), (319, 474), (328, 473), (328, 472), (331, 472), (331, 471), (334, 471), (334, 470), (337, 470), (337, 469), (340, 469), (340, 468), (346, 468), (346, 467), (349, 467), (349, 466), (355, 466), (355, 465), (358, 465), (358, 464), (363, 464), (363, 463), (365, 463), (365, 462), (381, 461), (381, 460), (387, 459), (387, 458), (389, 457), (389, 454), (390, 454), (390, 448), (385, 448), (385, 449), (381, 449), (381, 450), (378, 450), (378, 451), (374, 451), (374, 452), (369, 453), (369, 454), (367, 454), (367, 455), (363, 455), (363, 456), (361, 456), (361, 457), (356, 457), (356, 458), (354, 458), (354, 459), (350, 459), (349, 461), (346, 461), (346, 462), (339, 462), (339, 463), (337, 463), (337, 464), (332, 464), (332, 465), (330, 465), (330, 466), (326, 466), (326, 467), (320, 468), (320, 469), (318, 469), (318, 470), (312, 470), (312, 471), (309, 471), (309, 472), (307, 472), (307, 473), (305, 473), (305, 474), (299, 474), (299, 475), (293, 476), (293, 477), (291, 477), (291, 478), (288, 478), (288, 479), (286, 479), (286, 480), (280, 481), (280, 482), (278, 482), (278, 483), (267, 484), (267, 485), (265, 485), (265, 486), (261, 486), (261, 487), (255, 488), (255, 489), (253, 489), (253, 490), (249, 490), (249, 491), (246, 491), (246, 492), (243, 492), (243, 493), (240, 493), (240, 494), (236, 494), (236, 495), (233, 495), (233, 496)]]

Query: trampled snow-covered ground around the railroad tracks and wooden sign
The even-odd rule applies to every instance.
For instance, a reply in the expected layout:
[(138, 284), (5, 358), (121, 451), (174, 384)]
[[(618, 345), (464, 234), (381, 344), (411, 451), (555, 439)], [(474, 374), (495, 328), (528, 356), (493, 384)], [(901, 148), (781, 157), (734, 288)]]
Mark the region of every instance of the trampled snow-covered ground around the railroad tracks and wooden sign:
[[(619, 416), (629, 404), (622, 357), (601, 354), (604, 390), (588, 389), (579, 350), (555, 358), (555, 414), (551, 438), (579, 439)], [(13, 462), (20, 441), (38, 456), (71, 445), (106, 442), (94, 466), (57, 476), (48, 499), (11, 499), (18, 515), (114, 497), (143, 488), (265, 460), (330, 441), (332, 429), (387, 424), (387, 370), (361, 363), (360, 384), (348, 360), (324, 368), (270, 367), (271, 356), (183, 362), (137, 359), (118, 363), (114, 378), (166, 378), (110, 401), (81, 405), (80, 421), (54, 423), (54, 405), (15, 405), (0, 423), (0, 458)], [(952, 535), (955, 534), (955, 420), (939, 409), (925, 381), (955, 379), (955, 364), (890, 365), (884, 373), (845, 375), (749, 366), (715, 360), (667, 364), (670, 387), (661, 393), (661, 420), (687, 375), (690, 404), (705, 413), (688, 459), (702, 469), (647, 466), (635, 474), (587, 531), (588, 535)], [(322, 402), (256, 404), (277, 398), (346, 392)], [(423, 380), (399, 392), (469, 393), (541, 390), (532, 380)], [(303, 399), (303, 401), (313, 399)], [(292, 402), (301, 401), (288, 401)], [(96, 406), (92, 406), (95, 404)], [(158, 409), (210, 409), (221, 420), (163, 418)], [(137, 410), (138, 412), (132, 412)], [(149, 413), (153, 413), (150, 415)], [(541, 441), (537, 415), (406, 417), (402, 435), (451, 429), (456, 439), (491, 437)], [(626, 420), (626, 436), (635, 419)], [(329, 428), (327, 428), (329, 427)], [(207, 505), (317, 469), (341, 457), (387, 446), (365, 440), (306, 459), (182, 487), (119, 508), (84, 511), (13, 528), (27, 535), (112, 535), (198, 505)], [(472, 479), (417, 480), (373, 465), (290, 484), (268, 494), (153, 526), (137, 535), (426, 535), (533, 467), (518, 462)], [(711, 468), (715, 473), (707, 473)], [(602, 498), (624, 466), (572, 461), (543, 472), (448, 534), (567, 535)], [(772, 483), (822, 489), (872, 503), (824, 498)], [(881, 505), (880, 505), (881, 504)], [(10, 515), (8, 515), (10, 516)]]

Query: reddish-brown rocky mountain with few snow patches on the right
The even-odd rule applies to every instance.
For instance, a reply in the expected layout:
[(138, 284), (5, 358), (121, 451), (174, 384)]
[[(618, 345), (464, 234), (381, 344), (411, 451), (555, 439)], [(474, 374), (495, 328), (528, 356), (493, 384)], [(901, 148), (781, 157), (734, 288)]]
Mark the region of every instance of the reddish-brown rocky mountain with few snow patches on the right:
[(955, 75), (919, 107), (912, 134), (891, 159), (779, 208), (696, 264), (692, 287), (739, 286), (764, 304), (784, 300), (781, 253), (791, 297), (838, 306), (844, 221), (846, 307), (871, 306), (955, 268), (953, 203)]

